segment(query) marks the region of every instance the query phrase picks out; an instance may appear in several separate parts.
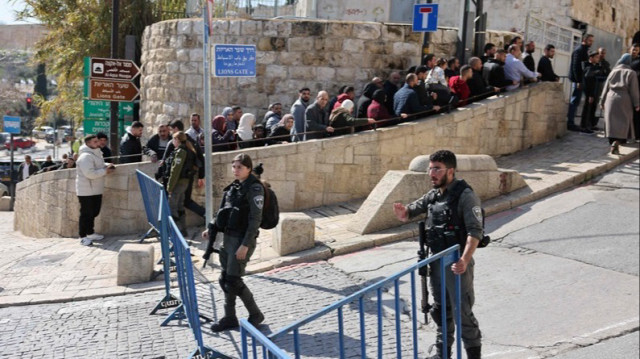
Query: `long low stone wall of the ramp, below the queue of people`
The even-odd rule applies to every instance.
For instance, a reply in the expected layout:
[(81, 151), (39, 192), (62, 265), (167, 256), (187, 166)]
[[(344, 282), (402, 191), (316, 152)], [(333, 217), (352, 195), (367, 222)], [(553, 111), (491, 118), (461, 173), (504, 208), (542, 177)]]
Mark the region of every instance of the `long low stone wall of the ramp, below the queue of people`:
[[(446, 148), (458, 154), (505, 155), (545, 143), (566, 131), (566, 105), (559, 83), (541, 83), (492, 97), (450, 114), (355, 135), (244, 150), (264, 163), (263, 179), (278, 195), (283, 211), (364, 198), (389, 170), (407, 168), (423, 154)], [(233, 179), (238, 151), (212, 154), (214, 203)], [(135, 170), (155, 164), (120, 165), (109, 175), (96, 230), (141, 233), (149, 228)], [(203, 189), (195, 199), (203, 203)], [(75, 170), (49, 172), (20, 182), (14, 228), (35, 237), (77, 235)]]

